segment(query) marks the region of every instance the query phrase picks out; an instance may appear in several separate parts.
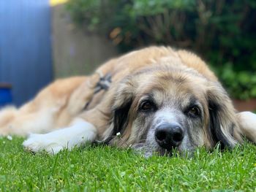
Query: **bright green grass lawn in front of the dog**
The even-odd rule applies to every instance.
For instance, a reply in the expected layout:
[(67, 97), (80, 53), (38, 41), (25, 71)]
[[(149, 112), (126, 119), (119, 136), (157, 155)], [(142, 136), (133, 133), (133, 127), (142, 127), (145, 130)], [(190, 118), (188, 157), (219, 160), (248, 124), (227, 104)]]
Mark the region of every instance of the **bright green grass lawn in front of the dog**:
[(0, 139), (0, 191), (256, 191), (256, 146), (193, 158), (143, 158), (99, 146), (33, 155)]

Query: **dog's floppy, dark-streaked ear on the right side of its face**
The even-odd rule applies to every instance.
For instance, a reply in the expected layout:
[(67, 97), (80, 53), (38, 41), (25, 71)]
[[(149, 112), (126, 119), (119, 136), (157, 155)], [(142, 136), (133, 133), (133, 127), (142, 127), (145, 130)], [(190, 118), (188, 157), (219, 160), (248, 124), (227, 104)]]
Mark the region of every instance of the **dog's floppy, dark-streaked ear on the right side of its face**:
[(210, 118), (209, 131), (214, 145), (219, 142), (222, 149), (233, 147), (238, 139), (234, 138), (234, 134), (238, 131), (238, 124), (232, 101), (218, 82), (208, 86), (206, 99)]

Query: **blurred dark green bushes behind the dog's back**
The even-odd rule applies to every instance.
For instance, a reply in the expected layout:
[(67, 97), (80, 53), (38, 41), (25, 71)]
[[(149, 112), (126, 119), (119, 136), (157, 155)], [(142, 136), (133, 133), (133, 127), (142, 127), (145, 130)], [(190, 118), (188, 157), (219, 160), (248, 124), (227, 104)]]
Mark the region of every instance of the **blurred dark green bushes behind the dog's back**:
[(172, 45), (195, 51), (217, 69), (231, 64), (238, 87), (226, 74), (222, 82), (233, 96), (255, 97), (249, 85), (239, 87), (246, 81), (239, 71), (256, 70), (255, 0), (69, 0), (67, 9), (75, 23), (107, 35), (121, 51)]

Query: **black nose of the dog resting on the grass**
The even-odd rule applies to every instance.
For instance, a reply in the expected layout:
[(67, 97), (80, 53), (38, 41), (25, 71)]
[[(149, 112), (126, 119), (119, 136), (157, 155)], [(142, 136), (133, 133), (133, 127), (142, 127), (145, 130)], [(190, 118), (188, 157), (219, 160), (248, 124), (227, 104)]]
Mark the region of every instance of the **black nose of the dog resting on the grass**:
[(164, 124), (156, 128), (154, 136), (161, 147), (170, 150), (181, 144), (184, 131), (178, 124)]

